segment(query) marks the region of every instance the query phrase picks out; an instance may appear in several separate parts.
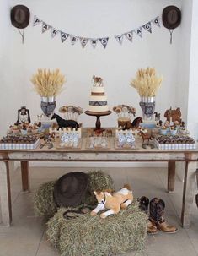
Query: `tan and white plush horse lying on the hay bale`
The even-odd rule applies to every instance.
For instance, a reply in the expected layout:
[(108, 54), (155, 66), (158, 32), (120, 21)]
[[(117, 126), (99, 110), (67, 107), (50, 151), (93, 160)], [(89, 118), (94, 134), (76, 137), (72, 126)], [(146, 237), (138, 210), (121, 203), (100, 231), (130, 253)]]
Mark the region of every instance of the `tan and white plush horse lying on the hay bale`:
[(132, 203), (133, 194), (129, 185), (124, 185), (116, 193), (110, 193), (107, 191), (94, 191), (96, 199), (98, 200), (97, 207), (91, 211), (91, 215), (95, 216), (99, 211), (109, 209), (100, 215), (101, 218), (106, 218), (109, 215), (115, 215), (119, 213), (120, 208), (126, 209), (126, 207)]

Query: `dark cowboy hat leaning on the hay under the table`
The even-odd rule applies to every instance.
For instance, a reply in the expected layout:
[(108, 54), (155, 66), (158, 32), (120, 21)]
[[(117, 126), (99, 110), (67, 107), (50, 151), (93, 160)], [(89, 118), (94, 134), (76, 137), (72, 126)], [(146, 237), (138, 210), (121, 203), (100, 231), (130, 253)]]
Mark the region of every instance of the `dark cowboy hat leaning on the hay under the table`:
[(88, 186), (88, 174), (69, 172), (60, 177), (54, 186), (54, 200), (58, 207), (75, 207), (80, 204)]

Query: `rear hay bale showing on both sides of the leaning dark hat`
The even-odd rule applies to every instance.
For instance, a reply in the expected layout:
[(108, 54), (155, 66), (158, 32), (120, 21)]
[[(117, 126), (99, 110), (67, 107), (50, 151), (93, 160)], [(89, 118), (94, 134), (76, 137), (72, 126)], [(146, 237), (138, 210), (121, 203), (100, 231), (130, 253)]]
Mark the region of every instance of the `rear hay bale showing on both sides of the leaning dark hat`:
[[(56, 181), (47, 182), (37, 189), (34, 197), (35, 215), (54, 215), (57, 211), (54, 203), (53, 191)], [(81, 204), (95, 205), (97, 203), (94, 190), (114, 189), (114, 182), (110, 175), (103, 171), (88, 172), (88, 188)]]

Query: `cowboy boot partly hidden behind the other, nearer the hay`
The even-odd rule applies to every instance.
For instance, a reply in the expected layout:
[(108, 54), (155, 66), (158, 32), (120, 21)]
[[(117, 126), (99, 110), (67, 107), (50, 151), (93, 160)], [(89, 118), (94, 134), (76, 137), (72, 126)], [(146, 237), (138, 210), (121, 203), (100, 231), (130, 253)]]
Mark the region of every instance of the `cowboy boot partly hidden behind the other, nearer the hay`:
[[(142, 196), (140, 199), (137, 199), (137, 201), (139, 202), (139, 209), (147, 214), (149, 199), (146, 196)], [(147, 220), (147, 233), (156, 234), (157, 232), (158, 229), (153, 225), (153, 222)]]

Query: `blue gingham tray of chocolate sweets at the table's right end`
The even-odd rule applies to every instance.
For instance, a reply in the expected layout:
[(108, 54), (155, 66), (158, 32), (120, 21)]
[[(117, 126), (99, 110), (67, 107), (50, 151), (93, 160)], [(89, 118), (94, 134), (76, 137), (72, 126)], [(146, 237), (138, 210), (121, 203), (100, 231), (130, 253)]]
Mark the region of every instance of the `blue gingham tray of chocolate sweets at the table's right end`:
[(154, 139), (159, 150), (195, 150), (195, 140), (186, 135), (161, 135)]

